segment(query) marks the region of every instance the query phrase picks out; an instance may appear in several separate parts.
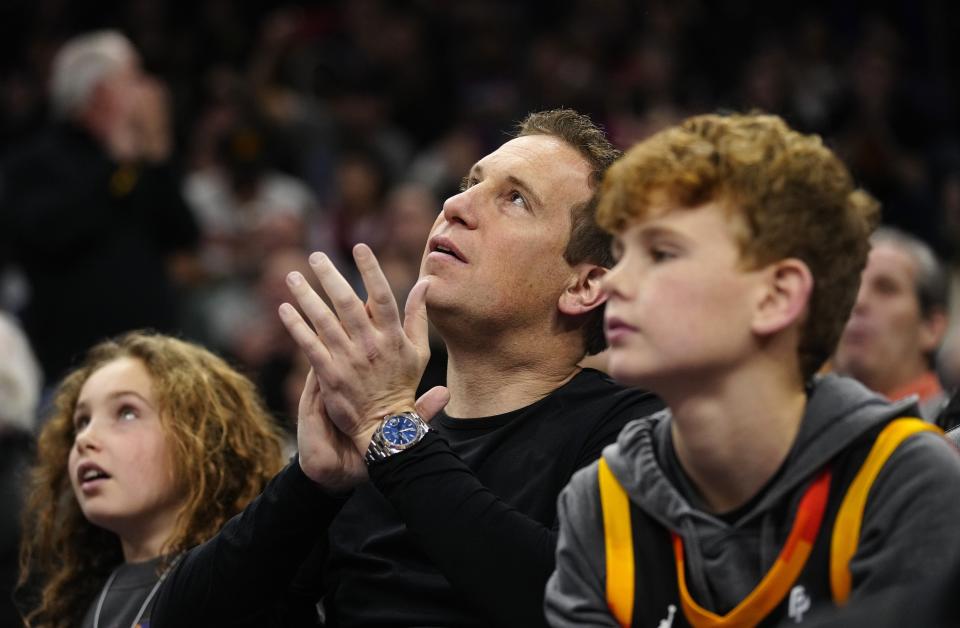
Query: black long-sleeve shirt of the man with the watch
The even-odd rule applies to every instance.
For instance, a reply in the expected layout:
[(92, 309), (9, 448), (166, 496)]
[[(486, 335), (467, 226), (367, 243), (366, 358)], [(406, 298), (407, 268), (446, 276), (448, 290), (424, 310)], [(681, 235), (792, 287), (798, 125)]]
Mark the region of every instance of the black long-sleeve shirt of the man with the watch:
[(629, 420), (662, 406), (592, 370), (514, 412), (438, 416), (346, 500), (289, 465), (158, 594), (152, 626), (543, 625), (556, 499)]

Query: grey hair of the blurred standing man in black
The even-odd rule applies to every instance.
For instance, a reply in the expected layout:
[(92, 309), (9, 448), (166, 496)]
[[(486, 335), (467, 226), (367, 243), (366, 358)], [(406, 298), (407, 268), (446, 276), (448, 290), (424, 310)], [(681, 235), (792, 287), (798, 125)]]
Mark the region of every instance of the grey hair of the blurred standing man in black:
[(113, 30), (78, 35), (57, 51), (50, 72), (54, 115), (69, 118), (82, 110), (97, 84), (137, 58), (130, 40)]

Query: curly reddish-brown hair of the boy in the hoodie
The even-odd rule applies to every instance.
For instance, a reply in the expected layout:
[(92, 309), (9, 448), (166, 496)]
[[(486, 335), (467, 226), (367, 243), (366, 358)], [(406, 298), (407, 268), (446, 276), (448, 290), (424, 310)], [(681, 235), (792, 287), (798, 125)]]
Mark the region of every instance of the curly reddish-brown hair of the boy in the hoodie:
[(833, 353), (857, 297), (878, 203), (854, 186), (819, 136), (773, 115), (702, 115), (630, 149), (604, 179), (599, 223), (621, 232), (666, 199), (695, 208), (719, 202), (735, 216), (741, 262), (788, 257), (814, 279), (799, 344), (812, 376)]

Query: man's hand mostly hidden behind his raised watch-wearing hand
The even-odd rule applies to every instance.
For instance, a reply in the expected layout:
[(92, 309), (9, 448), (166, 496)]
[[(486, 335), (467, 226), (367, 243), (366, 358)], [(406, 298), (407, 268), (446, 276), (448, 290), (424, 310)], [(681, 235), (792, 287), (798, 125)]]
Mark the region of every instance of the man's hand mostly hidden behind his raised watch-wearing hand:
[(331, 493), (344, 493), (367, 477), (363, 455), (327, 417), (313, 369), (307, 373), (300, 395), (297, 445), (300, 468)]

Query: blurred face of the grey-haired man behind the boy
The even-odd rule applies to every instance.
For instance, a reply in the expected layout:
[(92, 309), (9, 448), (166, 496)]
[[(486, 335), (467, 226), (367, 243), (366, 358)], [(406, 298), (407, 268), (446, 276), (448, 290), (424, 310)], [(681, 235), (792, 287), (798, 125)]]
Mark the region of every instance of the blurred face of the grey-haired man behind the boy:
[(837, 347), (839, 372), (883, 393), (926, 371), (925, 355), (940, 341), (940, 326), (920, 311), (917, 272), (914, 258), (896, 244), (874, 245)]

